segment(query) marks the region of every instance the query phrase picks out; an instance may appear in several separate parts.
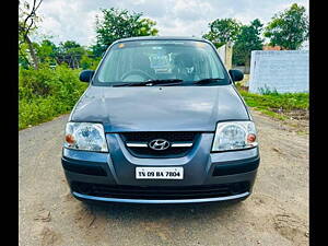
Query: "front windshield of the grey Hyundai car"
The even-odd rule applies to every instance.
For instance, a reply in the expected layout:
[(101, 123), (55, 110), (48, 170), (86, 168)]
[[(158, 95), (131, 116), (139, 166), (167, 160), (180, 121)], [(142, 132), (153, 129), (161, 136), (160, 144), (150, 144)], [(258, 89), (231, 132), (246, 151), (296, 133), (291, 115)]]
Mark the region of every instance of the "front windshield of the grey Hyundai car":
[(184, 82), (215, 79), (210, 84), (218, 85), (230, 83), (225, 73), (213, 47), (206, 42), (133, 40), (110, 47), (94, 83), (179, 80), (179, 85), (184, 85)]

